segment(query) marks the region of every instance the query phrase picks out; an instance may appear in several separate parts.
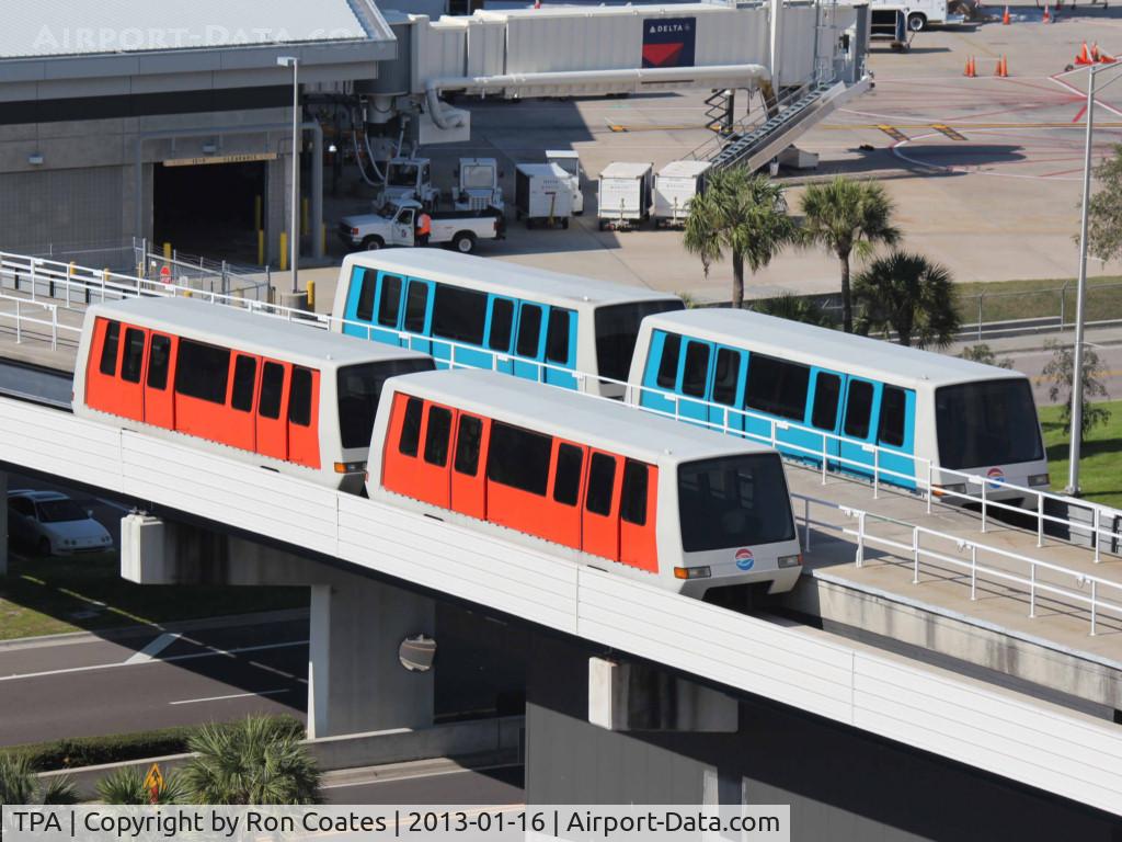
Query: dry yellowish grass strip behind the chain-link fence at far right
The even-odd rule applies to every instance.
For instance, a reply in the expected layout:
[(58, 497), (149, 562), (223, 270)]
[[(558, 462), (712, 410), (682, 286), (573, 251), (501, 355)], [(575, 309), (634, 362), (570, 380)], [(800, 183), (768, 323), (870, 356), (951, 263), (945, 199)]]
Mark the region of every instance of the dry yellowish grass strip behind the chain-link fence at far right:
[[(984, 294), (982, 321), (1056, 317), (1065, 283), (1064, 318), (1072, 322), (1075, 319), (1075, 278), (955, 284), (958, 313), (963, 323), (977, 322), (978, 295)], [(1087, 321), (1102, 319), (1122, 319), (1122, 277), (1087, 278)]]

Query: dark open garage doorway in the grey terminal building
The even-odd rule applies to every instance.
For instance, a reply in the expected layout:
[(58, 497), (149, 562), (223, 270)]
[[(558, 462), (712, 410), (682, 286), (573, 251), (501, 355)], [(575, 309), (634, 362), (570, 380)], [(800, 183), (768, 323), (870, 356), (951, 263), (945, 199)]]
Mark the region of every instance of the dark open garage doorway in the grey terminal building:
[(257, 263), (257, 198), (265, 196), (266, 162), (155, 166), (156, 250), (171, 242), (176, 251), (215, 260)]

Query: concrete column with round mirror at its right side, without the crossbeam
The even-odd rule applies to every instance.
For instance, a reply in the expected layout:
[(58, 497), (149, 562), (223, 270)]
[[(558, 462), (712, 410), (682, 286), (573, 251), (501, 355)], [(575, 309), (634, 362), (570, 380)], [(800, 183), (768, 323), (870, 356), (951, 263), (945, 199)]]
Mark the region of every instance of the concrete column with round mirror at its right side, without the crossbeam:
[(433, 674), (406, 670), (398, 648), (405, 638), (434, 632), (433, 601), (348, 579), (312, 586), (307, 735), (431, 726)]

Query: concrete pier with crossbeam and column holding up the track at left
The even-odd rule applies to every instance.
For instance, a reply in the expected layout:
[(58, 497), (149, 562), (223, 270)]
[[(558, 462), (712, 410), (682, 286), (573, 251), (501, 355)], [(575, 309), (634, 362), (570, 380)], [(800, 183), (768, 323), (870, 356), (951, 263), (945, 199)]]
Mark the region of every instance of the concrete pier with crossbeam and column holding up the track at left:
[[(311, 588), (307, 733), (433, 724), (433, 600), (283, 550), (144, 514), (121, 519), (121, 577), (140, 585)], [(421, 640), (416, 640), (421, 638)], [(408, 669), (402, 660), (403, 642)]]

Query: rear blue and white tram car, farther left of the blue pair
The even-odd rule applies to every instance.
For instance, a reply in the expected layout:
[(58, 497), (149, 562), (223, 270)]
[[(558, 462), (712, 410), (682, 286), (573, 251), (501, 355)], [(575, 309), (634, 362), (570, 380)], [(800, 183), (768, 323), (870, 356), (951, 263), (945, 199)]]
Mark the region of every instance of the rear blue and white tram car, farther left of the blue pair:
[[(636, 286), (435, 249), (353, 254), (335, 286), (332, 330), (622, 397), (644, 317), (680, 299)], [(340, 321), (344, 320), (344, 321)]]

